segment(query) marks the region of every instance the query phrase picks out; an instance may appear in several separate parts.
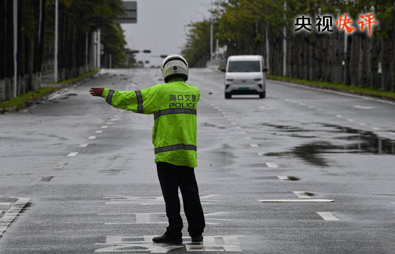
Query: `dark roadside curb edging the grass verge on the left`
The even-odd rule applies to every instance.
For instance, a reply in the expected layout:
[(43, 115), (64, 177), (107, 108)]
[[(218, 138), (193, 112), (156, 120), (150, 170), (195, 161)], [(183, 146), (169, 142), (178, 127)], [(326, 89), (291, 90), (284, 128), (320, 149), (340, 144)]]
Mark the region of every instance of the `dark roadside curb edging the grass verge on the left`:
[[(100, 70), (99, 70), (99, 71), (100, 71)], [(81, 85), (81, 84), (83, 84), (83, 83), (89, 81), (90, 79), (92, 79), (92, 77), (93, 77), (95, 74), (99, 73), (99, 71), (96, 72), (96, 73), (93, 73), (92, 75), (90, 75), (90, 76), (88, 76), (88, 77), (82, 78), (82, 79), (80, 79), (80, 80), (77, 81), (77, 82), (59, 84), (58, 87), (55, 87), (55, 89), (49, 91), (48, 93), (43, 94), (43, 95), (41, 95), (41, 96), (39, 96), (39, 97), (36, 97), (36, 98), (34, 98), (34, 99), (32, 99), (32, 100), (26, 101), (26, 102), (24, 102), (23, 104), (19, 105), (18, 107), (11, 107), (11, 108), (3, 108), (3, 109), (0, 109), (0, 114), (4, 114), (4, 113), (15, 113), (15, 112), (18, 112), (18, 111), (20, 111), (20, 110), (22, 110), (22, 109), (29, 108), (29, 107), (31, 107), (31, 106), (33, 106), (33, 105), (35, 105), (35, 104), (36, 104), (36, 105), (37, 105), (37, 104), (40, 104), (40, 101), (46, 100), (50, 95), (52, 95), (52, 94), (54, 94), (54, 93), (56, 93), (56, 92), (58, 92), (58, 91), (60, 91), (60, 90), (62, 90), (62, 89), (64, 89), (64, 88), (68, 88), (68, 87), (72, 87), (72, 86), (79, 86), (79, 85)]]

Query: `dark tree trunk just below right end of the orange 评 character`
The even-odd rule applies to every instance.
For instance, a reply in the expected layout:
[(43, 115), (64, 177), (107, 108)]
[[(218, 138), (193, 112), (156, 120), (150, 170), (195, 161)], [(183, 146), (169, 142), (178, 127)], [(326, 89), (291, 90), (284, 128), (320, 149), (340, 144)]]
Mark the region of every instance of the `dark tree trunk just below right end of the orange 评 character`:
[(381, 53), (380, 38), (374, 29), (370, 38), (370, 89), (379, 89), (379, 58)]

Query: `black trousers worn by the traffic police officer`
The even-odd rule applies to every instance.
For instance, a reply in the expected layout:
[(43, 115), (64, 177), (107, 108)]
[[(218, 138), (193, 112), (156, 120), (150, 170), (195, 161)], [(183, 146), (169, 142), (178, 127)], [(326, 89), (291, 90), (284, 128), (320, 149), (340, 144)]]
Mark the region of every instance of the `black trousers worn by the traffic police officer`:
[(194, 237), (202, 234), (205, 222), (194, 168), (158, 162), (157, 170), (160, 187), (166, 204), (166, 215), (169, 219), (169, 226), (166, 228), (165, 235), (174, 238), (182, 236), (181, 229), (183, 228), (183, 224), (180, 216), (178, 187), (181, 190), (184, 212), (188, 220), (189, 235)]

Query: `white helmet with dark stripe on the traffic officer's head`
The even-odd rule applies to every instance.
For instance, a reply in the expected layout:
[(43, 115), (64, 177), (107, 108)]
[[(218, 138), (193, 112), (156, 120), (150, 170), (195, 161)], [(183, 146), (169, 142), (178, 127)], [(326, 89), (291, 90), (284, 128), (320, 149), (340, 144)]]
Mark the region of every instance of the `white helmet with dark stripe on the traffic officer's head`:
[(163, 60), (162, 75), (166, 83), (175, 75), (182, 76), (185, 80), (188, 80), (187, 60), (180, 55), (169, 55)]

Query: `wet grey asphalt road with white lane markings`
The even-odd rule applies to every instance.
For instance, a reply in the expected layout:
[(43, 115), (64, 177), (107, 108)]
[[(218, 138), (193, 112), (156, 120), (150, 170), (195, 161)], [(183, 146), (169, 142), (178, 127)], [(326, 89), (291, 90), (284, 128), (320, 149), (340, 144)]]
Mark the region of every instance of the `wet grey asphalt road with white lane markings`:
[[(162, 82), (160, 72), (102, 70), (0, 115), (0, 229), (12, 197), (30, 199), (2, 233), (0, 254), (394, 253), (395, 105), (276, 81), (266, 99), (225, 100), (223, 79), (190, 70), (201, 91), (203, 245), (190, 243), (186, 219), (184, 244), (151, 243), (166, 226), (153, 116), (88, 93), (145, 88)], [(258, 201), (276, 199), (334, 202)]]

